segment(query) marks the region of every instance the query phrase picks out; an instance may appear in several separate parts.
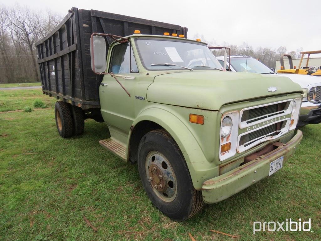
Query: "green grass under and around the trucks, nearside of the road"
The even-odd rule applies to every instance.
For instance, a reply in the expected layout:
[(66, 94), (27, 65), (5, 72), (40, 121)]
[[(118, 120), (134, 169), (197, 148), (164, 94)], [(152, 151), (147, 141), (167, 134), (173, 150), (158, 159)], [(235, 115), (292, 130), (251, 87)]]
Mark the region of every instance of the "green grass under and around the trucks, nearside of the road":
[[(49, 108), (33, 108), (35, 99)], [(137, 165), (100, 147), (104, 123), (57, 133), (55, 99), (39, 90), (0, 91), (0, 240), (321, 240), (321, 125), (283, 168), (233, 197), (174, 222), (145, 195)], [(84, 221), (90, 220), (94, 232)], [(254, 221), (311, 219), (310, 232), (258, 232)], [(209, 229), (237, 234), (231, 238)]]

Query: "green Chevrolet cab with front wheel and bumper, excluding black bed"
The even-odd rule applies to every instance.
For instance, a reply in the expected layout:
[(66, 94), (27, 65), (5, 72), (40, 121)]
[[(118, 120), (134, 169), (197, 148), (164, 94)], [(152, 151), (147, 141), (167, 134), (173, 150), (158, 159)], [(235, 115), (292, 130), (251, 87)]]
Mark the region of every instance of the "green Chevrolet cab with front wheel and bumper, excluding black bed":
[(138, 162), (146, 193), (169, 217), (191, 217), (273, 174), (299, 145), (302, 89), (289, 78), (224, 72), (200, 41), (125, 38), (101, 73), (111, 137), (100, 144)]

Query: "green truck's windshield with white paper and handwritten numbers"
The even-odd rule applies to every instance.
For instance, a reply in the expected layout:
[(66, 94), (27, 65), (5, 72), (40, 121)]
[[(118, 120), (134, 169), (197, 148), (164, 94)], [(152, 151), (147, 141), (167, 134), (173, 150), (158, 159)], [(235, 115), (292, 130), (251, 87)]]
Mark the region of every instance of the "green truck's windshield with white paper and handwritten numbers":
[(222, 69), (205, 46), (187, 41), (137, 39), (136, 46), (144, 67), (163, 69)]

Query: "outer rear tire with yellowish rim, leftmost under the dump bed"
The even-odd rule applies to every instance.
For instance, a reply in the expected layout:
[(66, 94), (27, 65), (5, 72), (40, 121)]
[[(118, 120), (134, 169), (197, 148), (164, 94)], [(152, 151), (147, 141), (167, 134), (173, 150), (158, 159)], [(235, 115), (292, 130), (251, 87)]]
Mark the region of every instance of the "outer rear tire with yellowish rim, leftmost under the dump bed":
[(73, 135), (73, 121), (68, 103), (56, 102), (55, 119), (59, 135), (63, 138), (71, 137)]

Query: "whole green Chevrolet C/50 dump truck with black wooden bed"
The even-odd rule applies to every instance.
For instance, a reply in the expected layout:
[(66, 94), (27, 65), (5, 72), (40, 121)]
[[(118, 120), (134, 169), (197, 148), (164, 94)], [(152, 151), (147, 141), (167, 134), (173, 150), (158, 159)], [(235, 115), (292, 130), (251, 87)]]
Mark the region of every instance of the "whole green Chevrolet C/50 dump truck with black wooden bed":
[(82, 134), (84, 119), (104, 121), (110, 138), (100, 145), (137, 163), (148, 197), (175, 220), (274, 174), (302, 138), (299, 85), (222, 71), (207, 45), (186, 34), (72, 8), (37, 43), (42, 91), (59, 99), (59, 134)]

